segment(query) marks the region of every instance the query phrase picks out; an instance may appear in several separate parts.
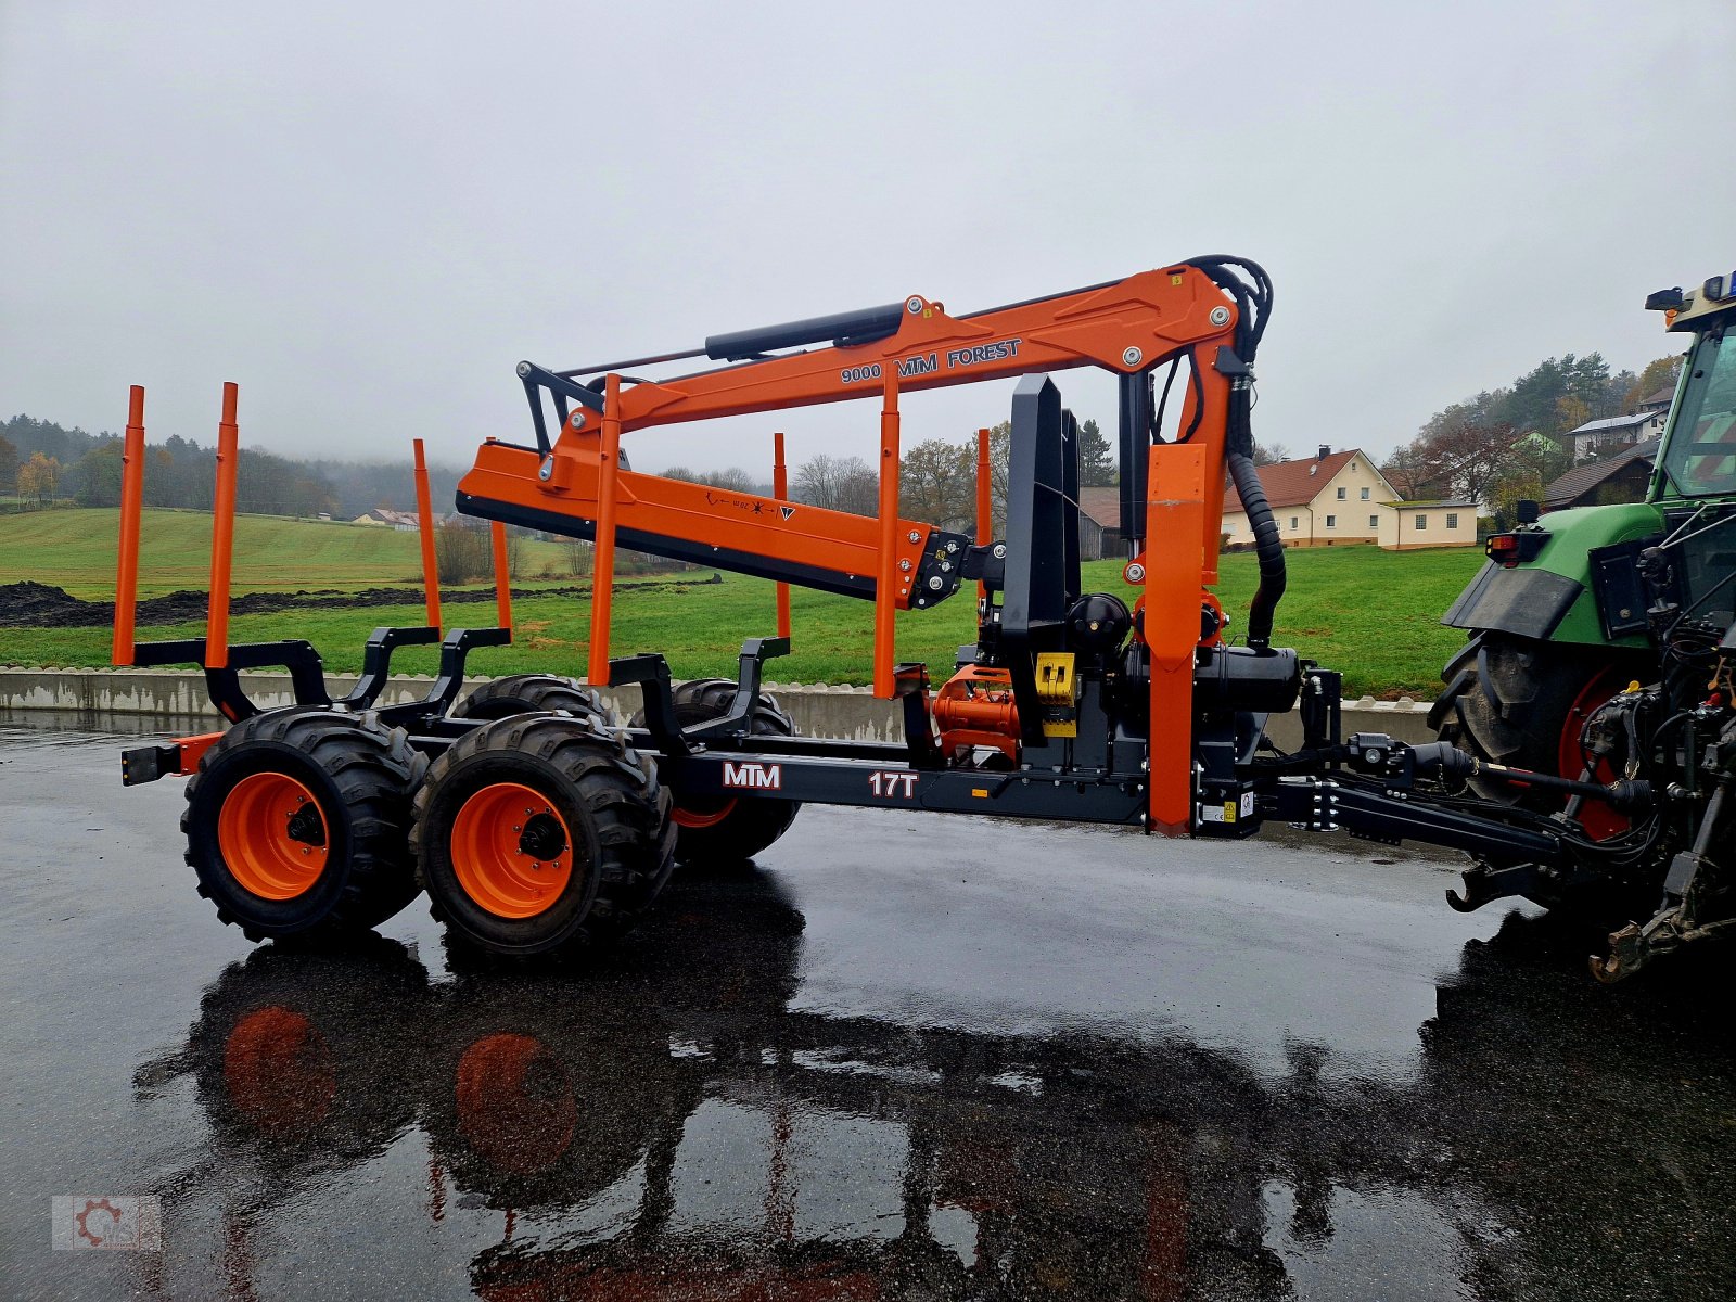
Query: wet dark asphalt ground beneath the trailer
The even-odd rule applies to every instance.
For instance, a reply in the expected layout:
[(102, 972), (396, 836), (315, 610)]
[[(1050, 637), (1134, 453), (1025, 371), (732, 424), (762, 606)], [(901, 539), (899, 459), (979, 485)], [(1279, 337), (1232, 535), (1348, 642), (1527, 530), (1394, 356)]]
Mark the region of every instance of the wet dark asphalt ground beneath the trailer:
[(0, 719), (5, 1297), (1736, 1293), (1729, 951), (1606, 990), (1441, 856), (837, 809), (561, 972), (420, 903), (255, 948), (66, 724)]

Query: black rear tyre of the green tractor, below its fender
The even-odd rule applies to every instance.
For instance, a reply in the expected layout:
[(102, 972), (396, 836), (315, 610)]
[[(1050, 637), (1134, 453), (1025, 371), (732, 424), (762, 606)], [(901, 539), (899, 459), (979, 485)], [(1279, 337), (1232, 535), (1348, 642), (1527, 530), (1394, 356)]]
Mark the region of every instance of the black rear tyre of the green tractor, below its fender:
[[(1441, 740), (1479, 759), (1564, 778), (1578, 778), (1585, 767), (1580, 729), (1592, 712), (1632, 679), (1654, 674), (1632, 653), (1592, 654), (1496, 632), (1479, 634), (1448, 665), (1450, 674), (1455, 665), (1463, 668), (1430, 713)], [(1595, 779), (1616, 776), (1601, 773)], [(1562, 806), (1545, 792), (1516, 790), (1488, 778), (1472, 778), (1470, 785), (1488, 800), (1543, 812)], [(1583, 806), (1581, 821), (1599, 840), (1628, 826), (1625, 816), (1595, 800)]]

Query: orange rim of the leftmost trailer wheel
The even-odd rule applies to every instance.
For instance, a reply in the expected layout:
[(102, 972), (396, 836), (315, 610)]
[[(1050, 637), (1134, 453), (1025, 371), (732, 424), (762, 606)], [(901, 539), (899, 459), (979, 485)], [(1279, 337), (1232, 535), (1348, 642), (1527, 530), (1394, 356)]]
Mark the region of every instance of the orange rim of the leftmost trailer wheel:
[(253, 773), (217, 812), (217, 849), (243, 891), (295, 899), (325, 873), (330, 830), (312, 792), (286, 773)]

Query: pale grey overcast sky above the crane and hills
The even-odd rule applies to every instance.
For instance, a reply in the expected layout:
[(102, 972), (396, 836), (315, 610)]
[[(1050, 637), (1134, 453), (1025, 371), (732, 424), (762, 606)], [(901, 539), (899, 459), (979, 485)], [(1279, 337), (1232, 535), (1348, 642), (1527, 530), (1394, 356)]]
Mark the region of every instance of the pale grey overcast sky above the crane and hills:
[[(1255, 432), (1384, 453), (1736, 271), (1736, 3), (0, 0), (0, 410), (467, 462), (549, 366), (1196, 253), (1276, 283)], [(1106, 425), (1113, 385), (1059, 377)], [(1010, 382), (906, 399), (906, 443)], [(849, 403), (641, 469), (870, 453)]]

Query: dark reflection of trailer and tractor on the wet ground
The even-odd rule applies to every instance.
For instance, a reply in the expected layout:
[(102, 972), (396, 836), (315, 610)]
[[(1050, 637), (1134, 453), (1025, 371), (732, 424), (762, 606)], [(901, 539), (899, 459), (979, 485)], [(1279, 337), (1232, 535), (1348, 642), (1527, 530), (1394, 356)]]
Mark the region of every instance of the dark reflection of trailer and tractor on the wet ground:
[[(1581, 1276), (1620, 1295), (1665, 1236), (1599, 1234), (1625, 1212), (1575, 1201), (1543, 1154), (1632, 1168), (1639, 1127), (1604, 1095), (1522, 1088), (1514, 1062), (1585, 1061), (1604, 1031), (1535, 958), (1547, 932), (1505, 930), (1467, 946), (1418, 1071), (1349, 1083), (1319, 1043), (1272, 1073), (1177, 1035), (793, 1009), (802, 915), (764, 873), (677, 887), (594, 972), (266, 946), (135, 1078), (141, 1102), (191, 1078), (210, 1127), (161, 1182), (182, 1248), (158, 1283), (196, 1293), (214, 1260), (243, 1293), (312, 1264), (372, 1278), (385, 1253), (391, 1292), (514, 1302), (1441, 1299)], [(1602, 1007), (1642, 1035), (1635, 1005)], [(1630, 1068), (1653, 1102), (1670, 1059), (1654, 1038)], [(1672, 1170), (1724, 1208), (1698, 1238), (1717, 1272), (1729, 1200), (1694, 1154), (1722, 1113), (1670, 1099), (1696, 1125)], [(1587, 1236), (1625, 1269), (1559, 1246)]]

